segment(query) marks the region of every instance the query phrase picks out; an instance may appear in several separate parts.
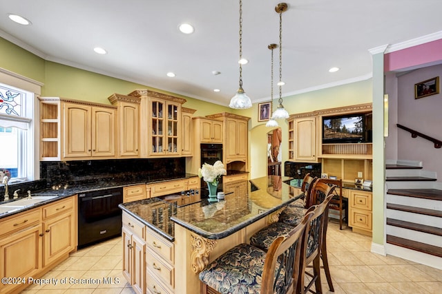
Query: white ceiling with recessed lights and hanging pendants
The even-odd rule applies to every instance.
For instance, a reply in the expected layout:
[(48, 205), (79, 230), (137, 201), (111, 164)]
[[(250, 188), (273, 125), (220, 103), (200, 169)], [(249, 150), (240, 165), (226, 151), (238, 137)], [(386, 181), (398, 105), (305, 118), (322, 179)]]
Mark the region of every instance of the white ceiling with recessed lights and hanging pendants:
[[(271, 91), (280, 1), (243, 0), (244, 91)], [(282, 96), (372, 76), (369, 50), (442, 31), (441, 0), (289, 0), (282, 14)], [(228, 105), (239, 81), (238, 0), (1, 0), (0, 36), (55, 61)], [(32, 25), (19, 25), (8, 14)], [(178, 30), (191, 23), (193, 34)], [(99, 55), (96, 46), (107, 50)], [(274, 81), (279, 75), (274, 52)], [(335, 73), (330, 67), (340, 67)], [(214, 75), (212, 72), (220, 74)], [(166, 76), (175, 72), (174, 78)], [(213, 92), (213, 89), (220, 92)], [(278, 96), (278, 88), (273, 94)]]

